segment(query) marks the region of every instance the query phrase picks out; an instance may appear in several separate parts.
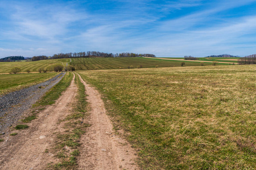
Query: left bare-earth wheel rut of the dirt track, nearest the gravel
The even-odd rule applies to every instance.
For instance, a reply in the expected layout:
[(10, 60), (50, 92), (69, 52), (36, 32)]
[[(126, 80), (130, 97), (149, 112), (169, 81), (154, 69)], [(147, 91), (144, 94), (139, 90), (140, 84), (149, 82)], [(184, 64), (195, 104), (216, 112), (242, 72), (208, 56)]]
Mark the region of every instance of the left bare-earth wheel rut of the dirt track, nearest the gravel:
[[(74, 76), (75, 78), (75, 76)], [(6, 137), (0, 143), (0, 169), (45, 169), (50, 162), (56, 162), (47, 148), (55, 145), (55, 135), (63, 131), (59, 120), (63, 120), (70, 112), (77, 92), (74, 78), (67, 91), (60, 96), (55, 104), (38, 113), (27, 130), (14, 130), (18, 135)]]

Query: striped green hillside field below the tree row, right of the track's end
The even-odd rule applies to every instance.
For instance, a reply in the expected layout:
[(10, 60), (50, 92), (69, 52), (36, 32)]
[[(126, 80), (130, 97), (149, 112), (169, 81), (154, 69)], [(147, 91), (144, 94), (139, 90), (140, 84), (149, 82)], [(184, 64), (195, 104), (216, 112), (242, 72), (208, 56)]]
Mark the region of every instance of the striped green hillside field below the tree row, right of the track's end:
[[(76, 70), (102, 70), (102, 69), (127, 69), (141, 67), (176, 67), (180, 66), (182, 61), (169, 61), (162, 59), (152, 59), (143, 57), (123, 57), (123, 58), (72, 58), (71, 65)], [(204, 63), (212, 65), (212, 63)], [(185, 61), (185, 66), (200, 66), (200, 62)]]

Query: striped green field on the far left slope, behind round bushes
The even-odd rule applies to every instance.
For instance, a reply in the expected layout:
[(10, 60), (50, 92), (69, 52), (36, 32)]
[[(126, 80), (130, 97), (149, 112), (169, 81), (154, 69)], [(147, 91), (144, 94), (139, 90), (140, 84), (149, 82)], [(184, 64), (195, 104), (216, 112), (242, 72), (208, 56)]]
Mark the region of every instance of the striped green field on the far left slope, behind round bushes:
[(1, 73), (10, 73), (10, 70), (13, 67), (20, 67), (22, 72), (26, 72), (29, 69), (31, 72), (38, 72), (38, 69), (47, 69), (47, 67), (55, 65), (57, 63), (61, 63), (62, 65), (66, 65), (69, 63), (69, 58), (63, 59), (46, 59), (40, 61), (24, 61), (24, 62), (0, 62), (0, 74)]

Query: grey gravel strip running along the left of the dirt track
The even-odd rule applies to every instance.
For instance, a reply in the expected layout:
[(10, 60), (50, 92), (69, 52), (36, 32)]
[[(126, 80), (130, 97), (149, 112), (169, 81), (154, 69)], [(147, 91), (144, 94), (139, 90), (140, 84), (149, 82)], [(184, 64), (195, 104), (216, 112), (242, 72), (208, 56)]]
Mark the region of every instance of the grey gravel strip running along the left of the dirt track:
[(63, 78), (65, 73), (56, 75), (46, 82), (11, 92), (0, 97), (0, 133), (5, 133), (6, 128), (20, 119), (20, 116), (35, 104), (50, 88)]

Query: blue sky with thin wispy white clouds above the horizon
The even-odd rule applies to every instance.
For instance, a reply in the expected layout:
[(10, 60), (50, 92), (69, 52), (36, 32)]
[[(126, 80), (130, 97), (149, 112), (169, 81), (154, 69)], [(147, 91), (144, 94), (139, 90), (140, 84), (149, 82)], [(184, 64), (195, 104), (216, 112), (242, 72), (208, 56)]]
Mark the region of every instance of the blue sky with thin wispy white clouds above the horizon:
[(256, 53), (256, 0), (0, 0), (0, 58), (100, 51)]

